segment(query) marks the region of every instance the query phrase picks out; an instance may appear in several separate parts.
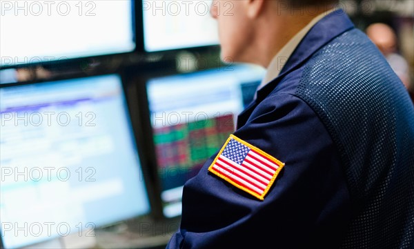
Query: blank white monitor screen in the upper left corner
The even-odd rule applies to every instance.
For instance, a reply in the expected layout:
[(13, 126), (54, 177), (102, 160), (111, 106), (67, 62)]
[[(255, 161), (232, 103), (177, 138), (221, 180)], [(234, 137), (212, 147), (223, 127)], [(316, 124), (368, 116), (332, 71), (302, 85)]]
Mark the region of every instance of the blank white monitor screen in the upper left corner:
[(135, 1), (1, 1), (0, 66), (135, 50)]

